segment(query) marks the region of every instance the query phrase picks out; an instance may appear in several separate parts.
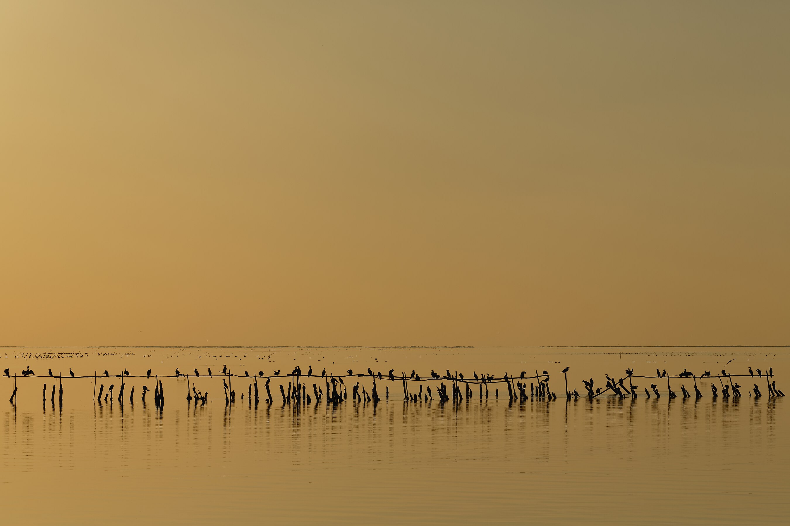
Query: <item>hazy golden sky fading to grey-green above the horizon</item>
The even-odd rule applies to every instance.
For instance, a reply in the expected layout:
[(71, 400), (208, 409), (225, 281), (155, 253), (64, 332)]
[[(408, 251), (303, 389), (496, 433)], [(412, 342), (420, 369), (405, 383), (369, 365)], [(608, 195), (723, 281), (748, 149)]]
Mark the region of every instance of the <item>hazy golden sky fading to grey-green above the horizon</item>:
[(601, 3), (2, 2), (0, 345), (790, 343), (790, 4)]

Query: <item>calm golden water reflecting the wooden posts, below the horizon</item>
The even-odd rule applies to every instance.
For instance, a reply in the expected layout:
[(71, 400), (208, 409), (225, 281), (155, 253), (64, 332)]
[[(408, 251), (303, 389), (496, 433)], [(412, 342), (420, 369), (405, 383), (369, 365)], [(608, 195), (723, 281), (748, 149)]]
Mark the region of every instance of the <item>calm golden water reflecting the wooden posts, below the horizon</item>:
[[(621, 352), (622, 351), (622, 352)], [(0, 370), (31, 367), (68, 375), (174, 374), (198, 367), (205, 405), (186, 401), (184, 378), (164, 378), (166, 403), (92, 401), (93, 379), (64, 379), (63, 405), (51, 405), (51, 379), (0, 379), (2, 524), (787, 524), (790, 521), (790, 398), (646, 398), (649, 381), (634, 380), (640, 397), (566, 401), (559, 371), (584, 393), (581, 379), (605, 383), (626, 367), (677, 374), (687, 367), (715, 375), (773, 367), (790, 394), (790, 349), (0, 349)], [(507, 401), (505, 384), (488, 399), (460, 404), (404, 403), (400, 382), (381, 382), (389, 401), (337, 407), (282, 405), (272, 381), (248, 404), (249, 381), (233, 379), (226, 406), (227, 364), (281, 374), (303, 370), (343, 374), (371, 367), (437, 372), (549, 371), (555, 401)], [(206, 367), (214, 371), (205, 377)], [(120, 379), (100, 379), (107, 386)], [(363, 380), (370, 392), (370, 379)], [(47, 383), (47, 401), (42, 388)], [(320, 380), (319, 386), (324, 385)], [(684, 381), (691, 389), (693, 382)], [(681, 381), (672, 380), (679, 394)], [(286, 381), (287, 385), (287, 381)], [(426, 382), (434, 390), (438, 382)], [(259, 382), (262, 387), (262, 382)], [(495, 397), (499, 387), (500, 396)], [(312, 387), (308, 384), (308, 392)], [(691, 390), (693, 393), (693, 389)], [(240, 398), (241, 393), (245, 398)], [(528, 390), (529, 393), (529, 390)], [(280, 401), (278, 402), (278, 398)]]

